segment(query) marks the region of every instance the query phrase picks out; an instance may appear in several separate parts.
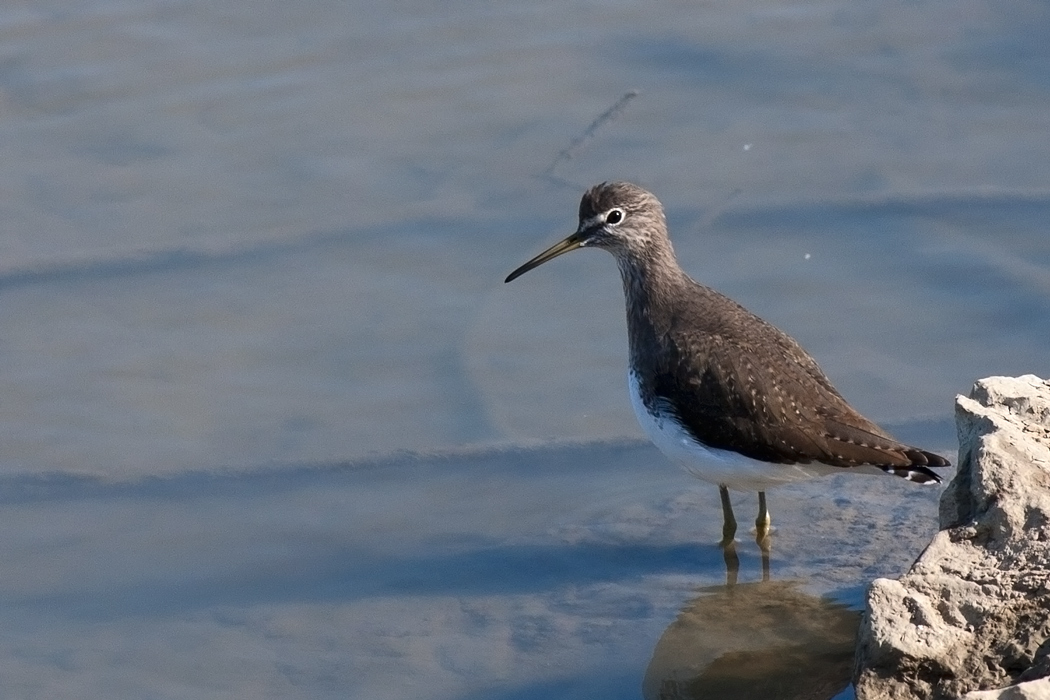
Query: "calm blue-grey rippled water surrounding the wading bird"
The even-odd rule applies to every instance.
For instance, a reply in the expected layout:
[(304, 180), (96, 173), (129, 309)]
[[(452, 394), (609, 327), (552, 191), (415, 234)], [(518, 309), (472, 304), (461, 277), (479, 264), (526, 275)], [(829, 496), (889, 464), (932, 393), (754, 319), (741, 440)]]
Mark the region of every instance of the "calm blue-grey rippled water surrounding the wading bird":
[[(726, 593), (717, 495), (638, 442), (611, 259), (502, 279), (632, 179), (698, 280), (951, 454), (956, 394), (1050, 364), (1048, 28), (1023, 1), (0, 8), (5, 695), (635, 698), (834, 637), (689, 612)], [(771, 499), (759, 597), (828, 629), (936, 528), (906, 484)], [(724, 643), (665, 656), (689, 620)]]

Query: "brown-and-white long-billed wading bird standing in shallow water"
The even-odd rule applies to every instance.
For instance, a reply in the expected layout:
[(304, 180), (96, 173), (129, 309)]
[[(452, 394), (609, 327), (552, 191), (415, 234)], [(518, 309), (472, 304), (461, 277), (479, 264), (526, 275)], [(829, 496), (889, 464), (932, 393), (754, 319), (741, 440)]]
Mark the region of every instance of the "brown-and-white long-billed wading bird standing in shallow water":
[(941, 482), (932, 468), (948, 460), (896, 440), (850, 406), (788, 334), (686, 274), (651, 192), (625, 182), (590, 188), (575, 232), (505, 281), (581, 248), (616, 260), (635, 417), (671, 462), (718, 485), (723, 548), (736, 533), (730, 489), (758, 492), (756, 540), (768, 573), (766, 489), (843, 471)]

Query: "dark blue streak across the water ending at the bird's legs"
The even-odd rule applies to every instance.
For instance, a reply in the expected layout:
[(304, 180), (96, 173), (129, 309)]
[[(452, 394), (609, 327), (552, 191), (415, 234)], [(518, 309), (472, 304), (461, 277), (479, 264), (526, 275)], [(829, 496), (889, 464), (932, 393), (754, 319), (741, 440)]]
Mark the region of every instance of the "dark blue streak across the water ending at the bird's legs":
[[(317, 547), (312, 549), (317, 550)], [(630, 580), (651, 574), (715, 569), (718, 550), (700, 545), (576, 544), (509, 546), (481, 544), (465, 552), (391, 558), (335, 545), (269, 565), (210, 572), (198, 565), (190, 579), (114, 581), (105, 590), (82, 589), (54, 596), (6, 597), (5, 606), (40, 608), (92, 619), (171, 615), (216, 606), (353, 602), (370, 596), (519, 595), (566, 586)], [(215, 575), (218, 574), (218, 575)], [(636, 600), (621, 617), (652, 614)]]

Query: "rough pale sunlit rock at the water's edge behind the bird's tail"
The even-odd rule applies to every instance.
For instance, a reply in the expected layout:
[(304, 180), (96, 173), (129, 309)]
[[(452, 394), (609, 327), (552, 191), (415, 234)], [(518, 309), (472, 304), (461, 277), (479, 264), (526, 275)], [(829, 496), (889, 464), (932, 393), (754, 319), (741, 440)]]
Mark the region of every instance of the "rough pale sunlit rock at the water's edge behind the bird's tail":
[(956, 421), (941, 531), (868, 591), (859, 700), (1050, 699), (1050, 382), (983, 379)]

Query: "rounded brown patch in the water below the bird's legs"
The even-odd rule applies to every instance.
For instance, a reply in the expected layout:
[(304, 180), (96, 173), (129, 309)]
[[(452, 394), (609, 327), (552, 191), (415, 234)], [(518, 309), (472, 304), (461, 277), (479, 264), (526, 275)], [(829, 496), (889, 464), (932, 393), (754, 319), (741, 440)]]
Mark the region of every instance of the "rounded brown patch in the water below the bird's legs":
[(708, 589), (656, 643), (643, 696), (827, 700), (849, 683), (859, 624), (859, 612), (794, 581)]

